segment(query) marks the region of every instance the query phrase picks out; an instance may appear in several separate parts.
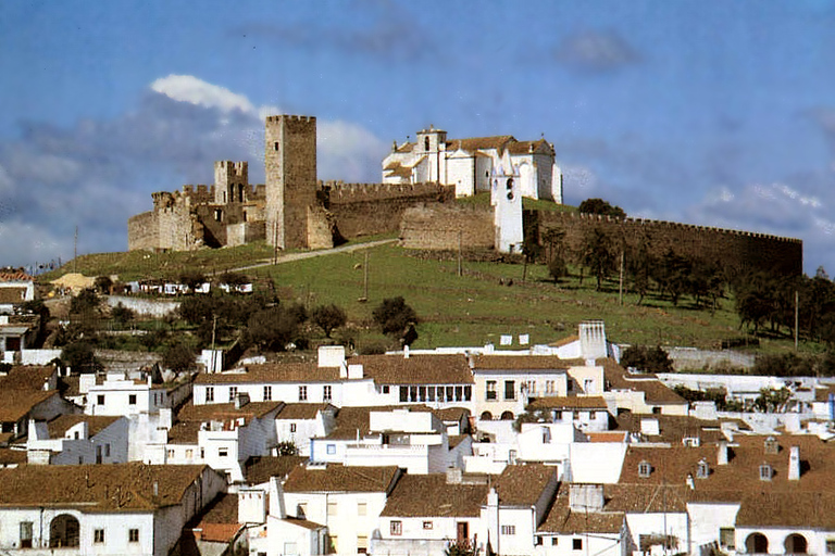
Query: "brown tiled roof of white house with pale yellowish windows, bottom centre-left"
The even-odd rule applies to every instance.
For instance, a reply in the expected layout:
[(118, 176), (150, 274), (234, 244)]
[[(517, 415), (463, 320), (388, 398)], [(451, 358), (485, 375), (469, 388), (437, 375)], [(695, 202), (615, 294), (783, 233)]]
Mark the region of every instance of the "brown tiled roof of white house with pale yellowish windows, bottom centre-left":
[(387, 492), (400, 473), (397, 466), (345, 467), (327, 464), (316, 467), (296, 467), (284, 483), (285, 492)]

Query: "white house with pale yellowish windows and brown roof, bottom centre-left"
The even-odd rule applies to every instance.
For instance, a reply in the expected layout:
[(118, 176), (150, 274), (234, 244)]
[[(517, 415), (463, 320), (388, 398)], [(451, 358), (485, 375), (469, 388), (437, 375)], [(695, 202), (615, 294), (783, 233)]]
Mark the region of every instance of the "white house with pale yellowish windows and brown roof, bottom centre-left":
[(379, 515), (402, 475), (397, 466), (308, 464), (283, 485), (287, 516), (325, 526), (328, 554), (367, 553), (379, 536)]

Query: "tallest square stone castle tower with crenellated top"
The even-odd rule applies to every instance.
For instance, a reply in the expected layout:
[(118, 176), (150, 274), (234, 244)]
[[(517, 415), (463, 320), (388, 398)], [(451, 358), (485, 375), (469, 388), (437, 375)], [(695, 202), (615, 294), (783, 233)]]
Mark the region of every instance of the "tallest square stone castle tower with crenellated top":
[[(281, 249), (321, 247), (311, 237), (316, 203), (316, 118), (267, 116), (264, 132), (266, 240)], [(333, 243), (332, 243), (333, 244)]]

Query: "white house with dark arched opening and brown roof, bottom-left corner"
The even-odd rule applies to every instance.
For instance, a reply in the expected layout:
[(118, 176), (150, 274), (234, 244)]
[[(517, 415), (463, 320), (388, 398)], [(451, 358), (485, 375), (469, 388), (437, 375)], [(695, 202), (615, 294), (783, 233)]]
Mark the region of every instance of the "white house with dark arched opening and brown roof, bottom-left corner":
[(0, 551), (167, 556), (186, 522), (224, 486), (208, 466), (0, 469)]

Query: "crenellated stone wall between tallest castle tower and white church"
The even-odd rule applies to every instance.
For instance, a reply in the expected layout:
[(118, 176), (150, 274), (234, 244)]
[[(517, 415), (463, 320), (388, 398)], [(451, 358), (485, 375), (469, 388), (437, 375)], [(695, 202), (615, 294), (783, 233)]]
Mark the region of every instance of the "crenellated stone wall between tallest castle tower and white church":
[(325, 184), (324, 204), (346, 238), (400, 229), (410, 206), (436, 204), (454, 198), (454, 189), (435, 184)]

